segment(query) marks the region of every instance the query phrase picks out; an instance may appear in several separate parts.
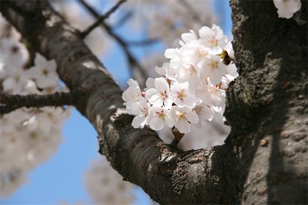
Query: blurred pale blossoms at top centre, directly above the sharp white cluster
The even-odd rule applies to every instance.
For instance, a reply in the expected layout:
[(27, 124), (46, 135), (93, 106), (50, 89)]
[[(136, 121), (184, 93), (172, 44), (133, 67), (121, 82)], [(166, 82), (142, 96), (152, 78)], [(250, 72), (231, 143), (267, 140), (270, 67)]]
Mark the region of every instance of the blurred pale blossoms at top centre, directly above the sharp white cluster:
[(159, 38), (167, 47), (177, 45), (181, 34), (187, 30), (216, 21), (209, 1), (128, 1), (124, 6), (136, 13), (131, 26), (146, 26), (149, 37)]

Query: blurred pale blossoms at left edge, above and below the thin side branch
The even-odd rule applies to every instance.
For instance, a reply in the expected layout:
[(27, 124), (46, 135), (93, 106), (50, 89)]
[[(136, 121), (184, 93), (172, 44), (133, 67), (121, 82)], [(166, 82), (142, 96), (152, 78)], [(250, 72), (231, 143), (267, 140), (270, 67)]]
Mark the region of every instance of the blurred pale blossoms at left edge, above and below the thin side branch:
[[(18, 39), (18, 38), (17, 38)], [(0, 39), (1, 92), (8, 94), (52, 94), (67, 91), (60, 85), (54, 60), (36, 54), (26, 66), (29, 53), (13, 38)], [(27, 180), (27, 172), (47, 160), (62, 141), (62, 122), (70, 108), (21, 108), (0, 118), (1, 196), (12, 194)]]

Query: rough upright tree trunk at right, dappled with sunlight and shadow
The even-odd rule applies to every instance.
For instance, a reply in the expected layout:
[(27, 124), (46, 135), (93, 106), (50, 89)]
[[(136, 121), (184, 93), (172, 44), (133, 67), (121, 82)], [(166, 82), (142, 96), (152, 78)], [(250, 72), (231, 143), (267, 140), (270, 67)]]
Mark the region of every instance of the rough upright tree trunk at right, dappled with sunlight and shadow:
[(307, 2), (291, 19), (278, 18), (272, 1), (230, 4), (240, 76), (225, 114), (227, 141), (243, 150), (239, 203), (307, 203)]

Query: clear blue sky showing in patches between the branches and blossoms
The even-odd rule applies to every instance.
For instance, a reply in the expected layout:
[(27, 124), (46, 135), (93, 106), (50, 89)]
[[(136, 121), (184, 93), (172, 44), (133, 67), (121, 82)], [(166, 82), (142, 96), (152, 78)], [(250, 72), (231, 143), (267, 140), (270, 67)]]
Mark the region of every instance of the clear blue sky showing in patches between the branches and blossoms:
[[(232, 23), (228, 1), (216, 0), (213, 9), (220, 14), (220, 25), (226, 35), (230, 36)], [(121, 32), (127, 33), (123, 30), (119, 31)], [(138, 58), (143, 56), (141, 49), (133, 51)], [(119, 46), (115, 46), (111, 54), (102, 60), (107, 68), (114, 71), (112, 75), (115, 81), (121, 82), (122, 85), (124, 81), (125, 84), (129, 74), (127, 71), (119, 70), (127, 68)], [(64, 123), (63, 138), (62, 144), (50, 160), (30, 172), (29, 182), (12, 196), (3, 198), (1, 204), (92, 203), (85, 190), (83, 176), (89, 169), (90, 161), (99, 155), (97, 134), (89, 121), (74, 109), (71, 117)], [(136, 204), (138, 203), (149, 203), (148, 199), (142, 197), (140, 191)]]

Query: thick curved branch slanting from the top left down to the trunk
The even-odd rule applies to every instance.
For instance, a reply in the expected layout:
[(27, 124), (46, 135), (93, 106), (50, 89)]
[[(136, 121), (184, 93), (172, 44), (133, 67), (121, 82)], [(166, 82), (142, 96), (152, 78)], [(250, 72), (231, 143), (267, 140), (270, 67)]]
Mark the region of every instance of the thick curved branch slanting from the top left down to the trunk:
[[(20, 15), (11, 4), (37, 17)], [(182, 152), (164, 144), (149, 128), (134, 129), (120, 88), (48, 2), (2, 1), (1, 12), (38, 52), (56, 60), (57, 72), (79, 99), (74, 106), (98, 132), (100, 152), (125, 180), (163, 204), (235, 202), (232, 172), (225, 169), (233, 167), (227, 146)]]

